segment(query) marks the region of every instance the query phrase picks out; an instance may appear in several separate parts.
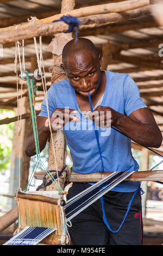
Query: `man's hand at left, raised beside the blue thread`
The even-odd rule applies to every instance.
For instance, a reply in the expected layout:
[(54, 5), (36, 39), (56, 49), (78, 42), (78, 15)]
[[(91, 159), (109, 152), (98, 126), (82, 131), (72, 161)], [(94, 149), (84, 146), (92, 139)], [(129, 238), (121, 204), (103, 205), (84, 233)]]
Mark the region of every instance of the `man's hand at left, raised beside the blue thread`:
[(50, 117), (52, 129), (54, 131), (60, 130), (68, 121), (73, 123), (79, 122), (80, 119), (74, 116), (77, 112), (77, 110), (70, 108), (56, 108)]

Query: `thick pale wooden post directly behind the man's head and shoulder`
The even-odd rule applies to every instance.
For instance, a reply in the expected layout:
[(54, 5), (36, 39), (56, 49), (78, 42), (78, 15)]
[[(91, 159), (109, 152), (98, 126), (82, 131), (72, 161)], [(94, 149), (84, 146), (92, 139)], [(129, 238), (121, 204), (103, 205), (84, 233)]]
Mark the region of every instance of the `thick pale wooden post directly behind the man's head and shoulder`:
[[(62, 0), (61, 13), (73, 10), (74, 5), (75, 5), (74, 0)], [(57, 66), (60, 66), (60, 64), (62, 63), (62, 60), (61, 60), (62, 48), (71, 39), (72, 39), (71, 34), (65, 35), (64, 33), (60, 33), (60, 34), (55, 35), (55, 38), (52, 40), (51, 44), (49, 45), (49, 47), (52, 46), (52, 52), (55, 53), (54, 54), (54, 68), (52, 70), (52, 80), (51, 80), (52, 84), (55, 82), (64, 80), (66, 78), (64, 72)], [(54, 45), (55, 45), (55, 47), (53, 47)], [(54, 162), (52, 142), (50, 141), (48, 169), (49, 170), (56, 170), (56, 169), (61, 170), (62, 167), (64, 166), (64, 161), (65, 161), (64, 132), (59, 130), (59, 131), (53, 133), (53, 143), (54, 143), (55, 156), (56, 156), (56, 160), (57, 160), (57, 168), (56, 168), (55, 162)]]

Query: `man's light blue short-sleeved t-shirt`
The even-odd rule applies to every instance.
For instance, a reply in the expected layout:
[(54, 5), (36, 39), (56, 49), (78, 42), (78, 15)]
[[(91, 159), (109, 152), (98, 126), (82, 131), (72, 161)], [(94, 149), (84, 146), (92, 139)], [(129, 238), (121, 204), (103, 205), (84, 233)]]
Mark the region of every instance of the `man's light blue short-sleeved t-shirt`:
[[(115, 111), (129, 115), (136, 109), (147, 107), (143, 103), (139, 89), (127, 74), (105, 71), (106, 85), (101, 106), (109, 106)], [(76, 109), (80, 122), (68, 122), (64, 127), (66, 143), (71, 152), (73, 172), (102, 172), (102, 161), (99, 155), (95, 130), (92, 121), (79, 112), (76, 92), (68, 79), (55, 83), (47, 91), (49, 115), (55, 108)], [(45, 99), (41, 104), (39, 116), (48, 117)], [(138, 170), (139, 164), (131, 154), (131, 140), (121, 133), (108, 128), (97, 127), (99, 143), (104, 164), (104, 172)], [(133, 192), (140, 182), (123, 181), (112, 191)]]

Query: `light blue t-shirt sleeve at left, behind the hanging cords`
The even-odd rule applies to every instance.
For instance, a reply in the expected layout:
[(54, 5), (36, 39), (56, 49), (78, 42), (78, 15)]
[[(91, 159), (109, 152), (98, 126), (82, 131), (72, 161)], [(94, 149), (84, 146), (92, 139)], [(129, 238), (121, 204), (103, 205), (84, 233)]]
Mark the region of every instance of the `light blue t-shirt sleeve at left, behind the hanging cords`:
[[(57, 108), (56, 100), (55, 100), (55, 90), (54, 90), (53, 86), (51, 86), (51, 88), (49, 88), (47, 90), (47, 94), (46, 95), (47, 95), (49, 117), (50, 117), (51, 114), (54, 112), (55, 108)], [(39, 117), (48, 117), (47, 104), (46, 104), (45, 97), (44, 97), (44, 99), (43, 99), (43, 101), (41, 103), (41, 112), (38, 115)]]

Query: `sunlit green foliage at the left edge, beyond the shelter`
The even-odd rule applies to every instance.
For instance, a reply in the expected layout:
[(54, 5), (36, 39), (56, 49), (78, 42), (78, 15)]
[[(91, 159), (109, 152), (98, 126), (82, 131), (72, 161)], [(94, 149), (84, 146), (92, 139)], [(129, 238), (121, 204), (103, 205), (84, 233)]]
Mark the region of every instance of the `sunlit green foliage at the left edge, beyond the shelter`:
[[(0, 109), (0, 119), (14, 117), (15, 112)], [(12, 138), (14, 135), (14, 123), (0, 126), (0, 172), (10, 168), (10, 155), (12, 151)]]

